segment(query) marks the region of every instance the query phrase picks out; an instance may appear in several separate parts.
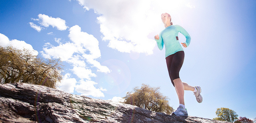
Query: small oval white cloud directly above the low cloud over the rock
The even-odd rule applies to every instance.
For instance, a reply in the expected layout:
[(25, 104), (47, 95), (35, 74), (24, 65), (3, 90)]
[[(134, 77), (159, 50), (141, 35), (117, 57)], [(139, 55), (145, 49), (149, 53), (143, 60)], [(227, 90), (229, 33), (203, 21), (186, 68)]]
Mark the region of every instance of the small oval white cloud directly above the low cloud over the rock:
[(84, 67), (74, 66), (72, 70), (74, 74), (76, 74), (76, 76), (78, 76), (81, 79), (85, 78), (91, 80), (91, 77), (96, 77), (96, 74), (92, 73), (92, 70), (86, 69)]

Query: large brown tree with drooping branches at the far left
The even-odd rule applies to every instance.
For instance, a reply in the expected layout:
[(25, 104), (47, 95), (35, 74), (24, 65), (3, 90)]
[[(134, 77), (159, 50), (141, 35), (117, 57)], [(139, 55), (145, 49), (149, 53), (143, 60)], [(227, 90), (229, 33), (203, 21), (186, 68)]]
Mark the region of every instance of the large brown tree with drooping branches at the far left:
[(23, 82), (56, 88), (62, 80), (60, 59), (44, 61), (27, 49), (0, 46), (0, 83)]

